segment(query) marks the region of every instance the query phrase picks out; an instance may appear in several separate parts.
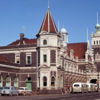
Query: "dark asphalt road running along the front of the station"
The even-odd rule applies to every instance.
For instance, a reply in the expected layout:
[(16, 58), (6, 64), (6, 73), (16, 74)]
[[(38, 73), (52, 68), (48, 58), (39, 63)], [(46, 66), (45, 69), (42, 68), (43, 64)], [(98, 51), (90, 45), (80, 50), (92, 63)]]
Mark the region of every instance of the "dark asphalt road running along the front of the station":
[(100, 100), (100, 93), (35, 95), (35, 96), (0, 96), (0, 100)]

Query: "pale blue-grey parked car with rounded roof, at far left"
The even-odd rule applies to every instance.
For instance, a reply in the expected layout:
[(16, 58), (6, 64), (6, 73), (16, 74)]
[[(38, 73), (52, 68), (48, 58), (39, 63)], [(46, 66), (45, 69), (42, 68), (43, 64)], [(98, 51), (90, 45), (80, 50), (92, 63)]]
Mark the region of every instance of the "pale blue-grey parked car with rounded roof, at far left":
[(6, 86), (1, 90), (1, 95), (18, 95), (18, 90), (14, 86)]

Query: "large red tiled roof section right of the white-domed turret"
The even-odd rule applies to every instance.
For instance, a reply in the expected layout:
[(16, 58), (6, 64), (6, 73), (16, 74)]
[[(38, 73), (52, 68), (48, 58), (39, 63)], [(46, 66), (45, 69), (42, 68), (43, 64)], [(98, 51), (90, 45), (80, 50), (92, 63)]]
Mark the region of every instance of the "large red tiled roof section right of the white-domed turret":
[(87, 50), (87, 43), (70, 43), (68, 44), (68, 52), (73, 49), (74, 50), (74, 56), (78, 57), (79, 59), (85, 58), (85, 52)]

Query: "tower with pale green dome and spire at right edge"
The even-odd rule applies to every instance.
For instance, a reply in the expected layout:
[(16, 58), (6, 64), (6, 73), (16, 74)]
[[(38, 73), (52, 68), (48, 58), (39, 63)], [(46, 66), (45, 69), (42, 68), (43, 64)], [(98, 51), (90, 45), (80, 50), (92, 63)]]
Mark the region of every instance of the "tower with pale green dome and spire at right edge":
[(97, 23), (96, 32), (91, 34), (92, 38), (92, 49), (94, 54), (94, 62), (97, 67), (97, 71), (100, 72), (100, 24), (98, 23), (98, 13), (97, 13)]

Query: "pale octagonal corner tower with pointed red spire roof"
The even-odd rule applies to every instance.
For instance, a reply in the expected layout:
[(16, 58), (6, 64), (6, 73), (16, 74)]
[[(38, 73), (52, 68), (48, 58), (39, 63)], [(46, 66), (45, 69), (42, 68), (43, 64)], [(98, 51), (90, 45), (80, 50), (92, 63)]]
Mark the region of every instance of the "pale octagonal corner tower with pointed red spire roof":
[[(58, 89), (58, 65), (61, 36), (48, 7), (46, 16), (37, 34), (38, 80), (40, 90)], [(63, 80), (63, 79), (62, 79)], [(62, 83), (63, 84), (63, 83)]]

